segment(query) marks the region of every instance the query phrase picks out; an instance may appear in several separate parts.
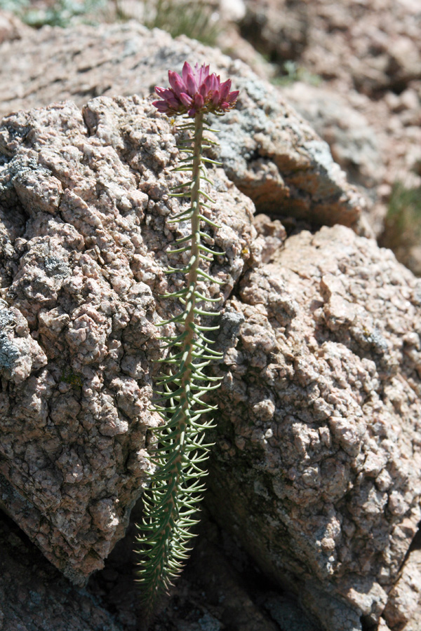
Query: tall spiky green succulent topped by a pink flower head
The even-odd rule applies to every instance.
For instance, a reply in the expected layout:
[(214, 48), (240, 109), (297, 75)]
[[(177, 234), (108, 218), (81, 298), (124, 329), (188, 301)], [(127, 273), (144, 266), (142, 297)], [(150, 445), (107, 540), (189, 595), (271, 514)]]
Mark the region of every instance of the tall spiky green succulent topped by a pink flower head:
[(203, 208), (215, 203), (202, 189), (202, 182), (211, 184), (206, 163), (219, 164), (203, 156), (203, 146), (216, 144), (204, 136), (211, 130), (205, 116), (224, 114), (235, 106), (238, 96), (238, 92), (230, 92), (231, 81), (221, 83), (219, 76), (210, 74), (207, 65), (196, 64), (192, 69), (185, 62), (182, 76), (170, 71), (168, 79), (170, 88), (155, 88), (161, 100), (155, 101), (154, 106), (167, 116), (183, 117), (185, 122), (179, 129), (189, 137), (179, 149), (187, 157), (182, 158), (175, 171), (191, 172), (188, 181), (175, 186), (172, 193), (189, 198), (189, 208), (169, 221), (189, 220), (191, 231), (178, 239), (178, 247), (171, 251), (173, 254), (187, 252), (187, 265), (167, 270), (169, 274), (185, 275), (185, 287), (165, 294), (178, 299), (182, 311), (159, 323), (159, 326), (173, 324), (177, 331), (161, 338), (167, 354), (161, 360), (163, 371), (156, 382), (154, 410), (163, 424), (156, 430), (157, 447), (150, 458), (155, 472), (144, 496), (142, 524), (138, 525), (138, 573), (148, 611), (152, 611), (159, 595), (168, 592), (189, 555), (191, 529), (198, 521), (195, 514), (204, 490), (203, 463), (212, 446), (205, 443), (205, 433), (213, 421), (203, 420), (203, 414), (216, 408), (203, 401), (203, 397), (218, 388), (219, 380), (207, 376), (205, 369), (222, 355), (211, 348), (213, 340), (208, 337), (208, 332), (218, 326), (205, 326), (202, 318), (216, 315), (217, 312), (203, 306), (220, 298), (206, 296), (199, 285), (203, 282), (222, 284), (210, 276), (208, 267), (214, 256), (223, 256), (225, 252), (216, 252), (202, 243), (202, 237), (206, 236), (201, 229), (204, 223), (219, 227), (203, 214)]

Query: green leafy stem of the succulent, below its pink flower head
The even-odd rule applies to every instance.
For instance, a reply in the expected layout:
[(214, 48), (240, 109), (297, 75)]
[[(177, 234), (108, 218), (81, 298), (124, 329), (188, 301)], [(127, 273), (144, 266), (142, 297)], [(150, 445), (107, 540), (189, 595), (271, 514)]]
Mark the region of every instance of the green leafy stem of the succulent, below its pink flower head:
[[(171, 579), (181, 570), (182, 561), (187, 558), (185, 542), (189, 538), (187, 529), (196, 523), (189, 515), (192, 504), (199, 501), (192, 498), (192, 494), (202, 490), (201, 484), (192, 483), (192, 459), (197, 447), (196, 437), (206, 424), (197, 423), (197, 412), (192, 412), (194, 405), (204, 406), (196, 394), (198, 389), (194, 384), (195, 375), (199, 376), (198, 368), (194, 366), (197, 336), (195, 318), (198, 309), (196, 302), (203, 297), (197, 293), (199, 278), (199, 262), (201, 259), (201, 231), (200, 231), (200, 196), (201, 196), (201, 163), (203, 139), (203, 114), (196, 114), (194, 119), (194, 142), (192, 156), (192, 187), (191, 187), (191, 238), (190, 259), (187, 266), (187, 292), (185, 294), (185, 311), (183, 318), (183, 332), (179, 336), (177, 356), (180, 366), (175, 376), (165, 380), (174, 384), (174, 393), (168, 393), (169, 403), (166, 408), (166, 425), (161, 428), (161, 447), (158, 461), (161, 467), (152, 477), (150, 496), (145, 503), (146, 519), (140, 530), (147, 531), (140, 536), (140, 543), (149, 546), (140, 554), (147, 557), (143, 569), (140, 569), (140, 581), (145, 585), (144, 601), (150, 613), (162, 590), (168, 590)], [(200, 344), (203, 344), (200, 341)], [(216, 355), (216, 353), (214, 353)], [(170, 363), (170, 361), (168, 361)], [(199, 376), (201, 379), (201, 376)], [(192, 392), (192, 388), (194, 392)], [(208, 408), (205, 407), (203, 412)], [(197, 447), (196, 447), (197, 445)], [(192, 448), (193, 446), (193, 448)], [(188, 448), (187, 448), (188, 447)], [(203, 445), (203, 449), (206, 445)], [(206, 449), (205, 449), (206, 451)], [(203, 473), (194, 466), (197, 472), (194, 477), (201, 477)]]

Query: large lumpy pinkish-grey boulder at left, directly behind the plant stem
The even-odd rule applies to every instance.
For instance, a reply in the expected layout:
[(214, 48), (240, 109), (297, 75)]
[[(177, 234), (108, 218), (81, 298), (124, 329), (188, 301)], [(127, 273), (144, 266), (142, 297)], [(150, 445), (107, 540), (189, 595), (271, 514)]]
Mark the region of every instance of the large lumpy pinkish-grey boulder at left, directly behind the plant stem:
[[(102, 567), (147, 483), (154, 323), (176, 308), (161, 300), (183, 282), (164, 273), (166, 250), (188, 233), (166, 222), (187, 203), (168, 198), (176, 142), (138, 98), (55, 104), (0, 128), (0, 498), (74, 583)], [(254, 208), (223, 170), (214, 179), (222, 227), (205, 231), (227, 252), (212, 268), (227, 297)]]

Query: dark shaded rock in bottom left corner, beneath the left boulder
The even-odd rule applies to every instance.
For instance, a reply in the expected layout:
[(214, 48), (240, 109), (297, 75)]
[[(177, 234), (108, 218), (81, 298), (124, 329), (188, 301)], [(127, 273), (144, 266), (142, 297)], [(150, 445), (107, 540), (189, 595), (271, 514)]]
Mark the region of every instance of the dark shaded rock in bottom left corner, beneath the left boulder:
[(98, 599), (60, 575), (0, 513), (0, 629), (123, 631)]

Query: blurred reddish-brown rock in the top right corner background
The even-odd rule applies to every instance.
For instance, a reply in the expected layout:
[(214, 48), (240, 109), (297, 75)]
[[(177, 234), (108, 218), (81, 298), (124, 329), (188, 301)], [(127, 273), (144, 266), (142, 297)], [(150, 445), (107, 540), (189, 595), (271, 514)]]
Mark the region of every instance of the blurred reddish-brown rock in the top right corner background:
[(246, 0), (246, 8), (248, 39), (279, 60), (302, 59), (323, 79), (378, 95), (421, 77), (417, 0)]

